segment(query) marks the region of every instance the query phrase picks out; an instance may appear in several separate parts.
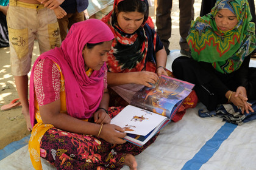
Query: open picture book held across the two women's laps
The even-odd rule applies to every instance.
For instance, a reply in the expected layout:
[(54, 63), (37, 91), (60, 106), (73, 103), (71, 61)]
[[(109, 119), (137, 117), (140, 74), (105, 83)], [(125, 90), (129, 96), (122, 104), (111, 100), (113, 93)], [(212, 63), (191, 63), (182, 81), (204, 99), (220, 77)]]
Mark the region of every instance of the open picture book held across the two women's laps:
[(111, 123), (126, 129), (125, 140), (143, 146), (176, 114), (194, 84), (163, 76), (155, 86), (143, 87)]

